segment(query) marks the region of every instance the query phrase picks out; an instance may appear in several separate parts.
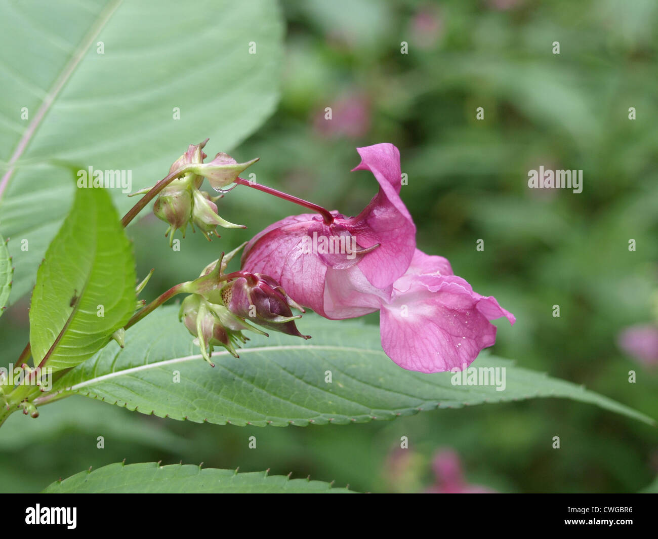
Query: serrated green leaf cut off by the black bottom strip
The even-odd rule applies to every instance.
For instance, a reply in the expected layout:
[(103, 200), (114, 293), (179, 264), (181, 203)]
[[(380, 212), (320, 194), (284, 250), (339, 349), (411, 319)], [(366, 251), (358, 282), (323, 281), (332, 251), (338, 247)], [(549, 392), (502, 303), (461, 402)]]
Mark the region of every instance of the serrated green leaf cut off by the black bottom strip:
[(158, 463), (122, 463), (103, 466), (56, 481), (46, 494), (345, 494), (347, 488), (309, 479), (290, 479), (267, 472), (238, 473), (237, 470), (202, 469), (191, 464), (161, 466)]

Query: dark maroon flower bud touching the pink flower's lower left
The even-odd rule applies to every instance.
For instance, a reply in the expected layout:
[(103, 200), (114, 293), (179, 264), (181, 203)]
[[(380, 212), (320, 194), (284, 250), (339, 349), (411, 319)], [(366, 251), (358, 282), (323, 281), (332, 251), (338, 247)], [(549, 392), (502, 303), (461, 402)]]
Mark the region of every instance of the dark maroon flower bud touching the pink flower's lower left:
[(240, 317), (274, 331), (308, 339), (299, 333), (295, 320), (301, 315), (293, 316), (290, 307), (297, 305), (270, 276), (243, 272), (220, 290), (222, 303), (228, 310)]

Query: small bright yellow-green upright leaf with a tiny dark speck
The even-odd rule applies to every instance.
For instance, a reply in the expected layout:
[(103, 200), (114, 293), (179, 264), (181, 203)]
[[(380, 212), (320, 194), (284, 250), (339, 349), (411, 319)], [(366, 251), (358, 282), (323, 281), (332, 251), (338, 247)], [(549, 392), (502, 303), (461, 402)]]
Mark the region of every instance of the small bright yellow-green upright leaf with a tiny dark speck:
[(109, 194), (76, 190), (32, 293), (34, 364), (47, 358), (47, 367), (59, 371), (99, 351), (134, 313), (135, 285), (132, 249)]

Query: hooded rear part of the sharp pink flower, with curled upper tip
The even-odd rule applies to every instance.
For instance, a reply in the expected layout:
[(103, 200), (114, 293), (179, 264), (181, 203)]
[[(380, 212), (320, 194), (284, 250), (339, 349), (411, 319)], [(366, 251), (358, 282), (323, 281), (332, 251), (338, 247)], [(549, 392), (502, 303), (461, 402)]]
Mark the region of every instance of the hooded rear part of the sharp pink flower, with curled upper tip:
[(333, 319), (361, 316), (379, 307), (368, 298), (362, 305), (332, 304), (333, 311), (327, 313), (325, 290), (331, 295), (332, 283), (340, 283), (347, 271), (361, 288), (369, 287), (368, 292), (390, 294), (416, 247), (416, 226), (399, 195), (399, 151), (388, 143), (357, 151), (361, 163), (354, 170), (370, 170), (380, 185), (357, 217), (338, 211), (331, 212), (331, 222), (316, 214), (286, 217), (257, 234), (242, 256), (244, 270), (272, 276), (294, 301)]

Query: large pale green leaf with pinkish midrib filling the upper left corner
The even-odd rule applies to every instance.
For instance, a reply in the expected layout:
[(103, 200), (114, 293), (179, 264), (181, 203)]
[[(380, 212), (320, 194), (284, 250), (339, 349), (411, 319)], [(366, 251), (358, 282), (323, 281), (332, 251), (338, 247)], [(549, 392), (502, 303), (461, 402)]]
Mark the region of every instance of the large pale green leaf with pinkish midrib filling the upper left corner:
[[(29, 245), (14, 253), (12, 302), (71, 205), (70, 173), (53, 158), (130, 172), (138, 190), (190, 143), (232, 150), (278, 100), (283, 22), (271, 0), (7, 1), (0, 20), (0, 232)], [(112, 195), (120, 213), (135, 202)]]

